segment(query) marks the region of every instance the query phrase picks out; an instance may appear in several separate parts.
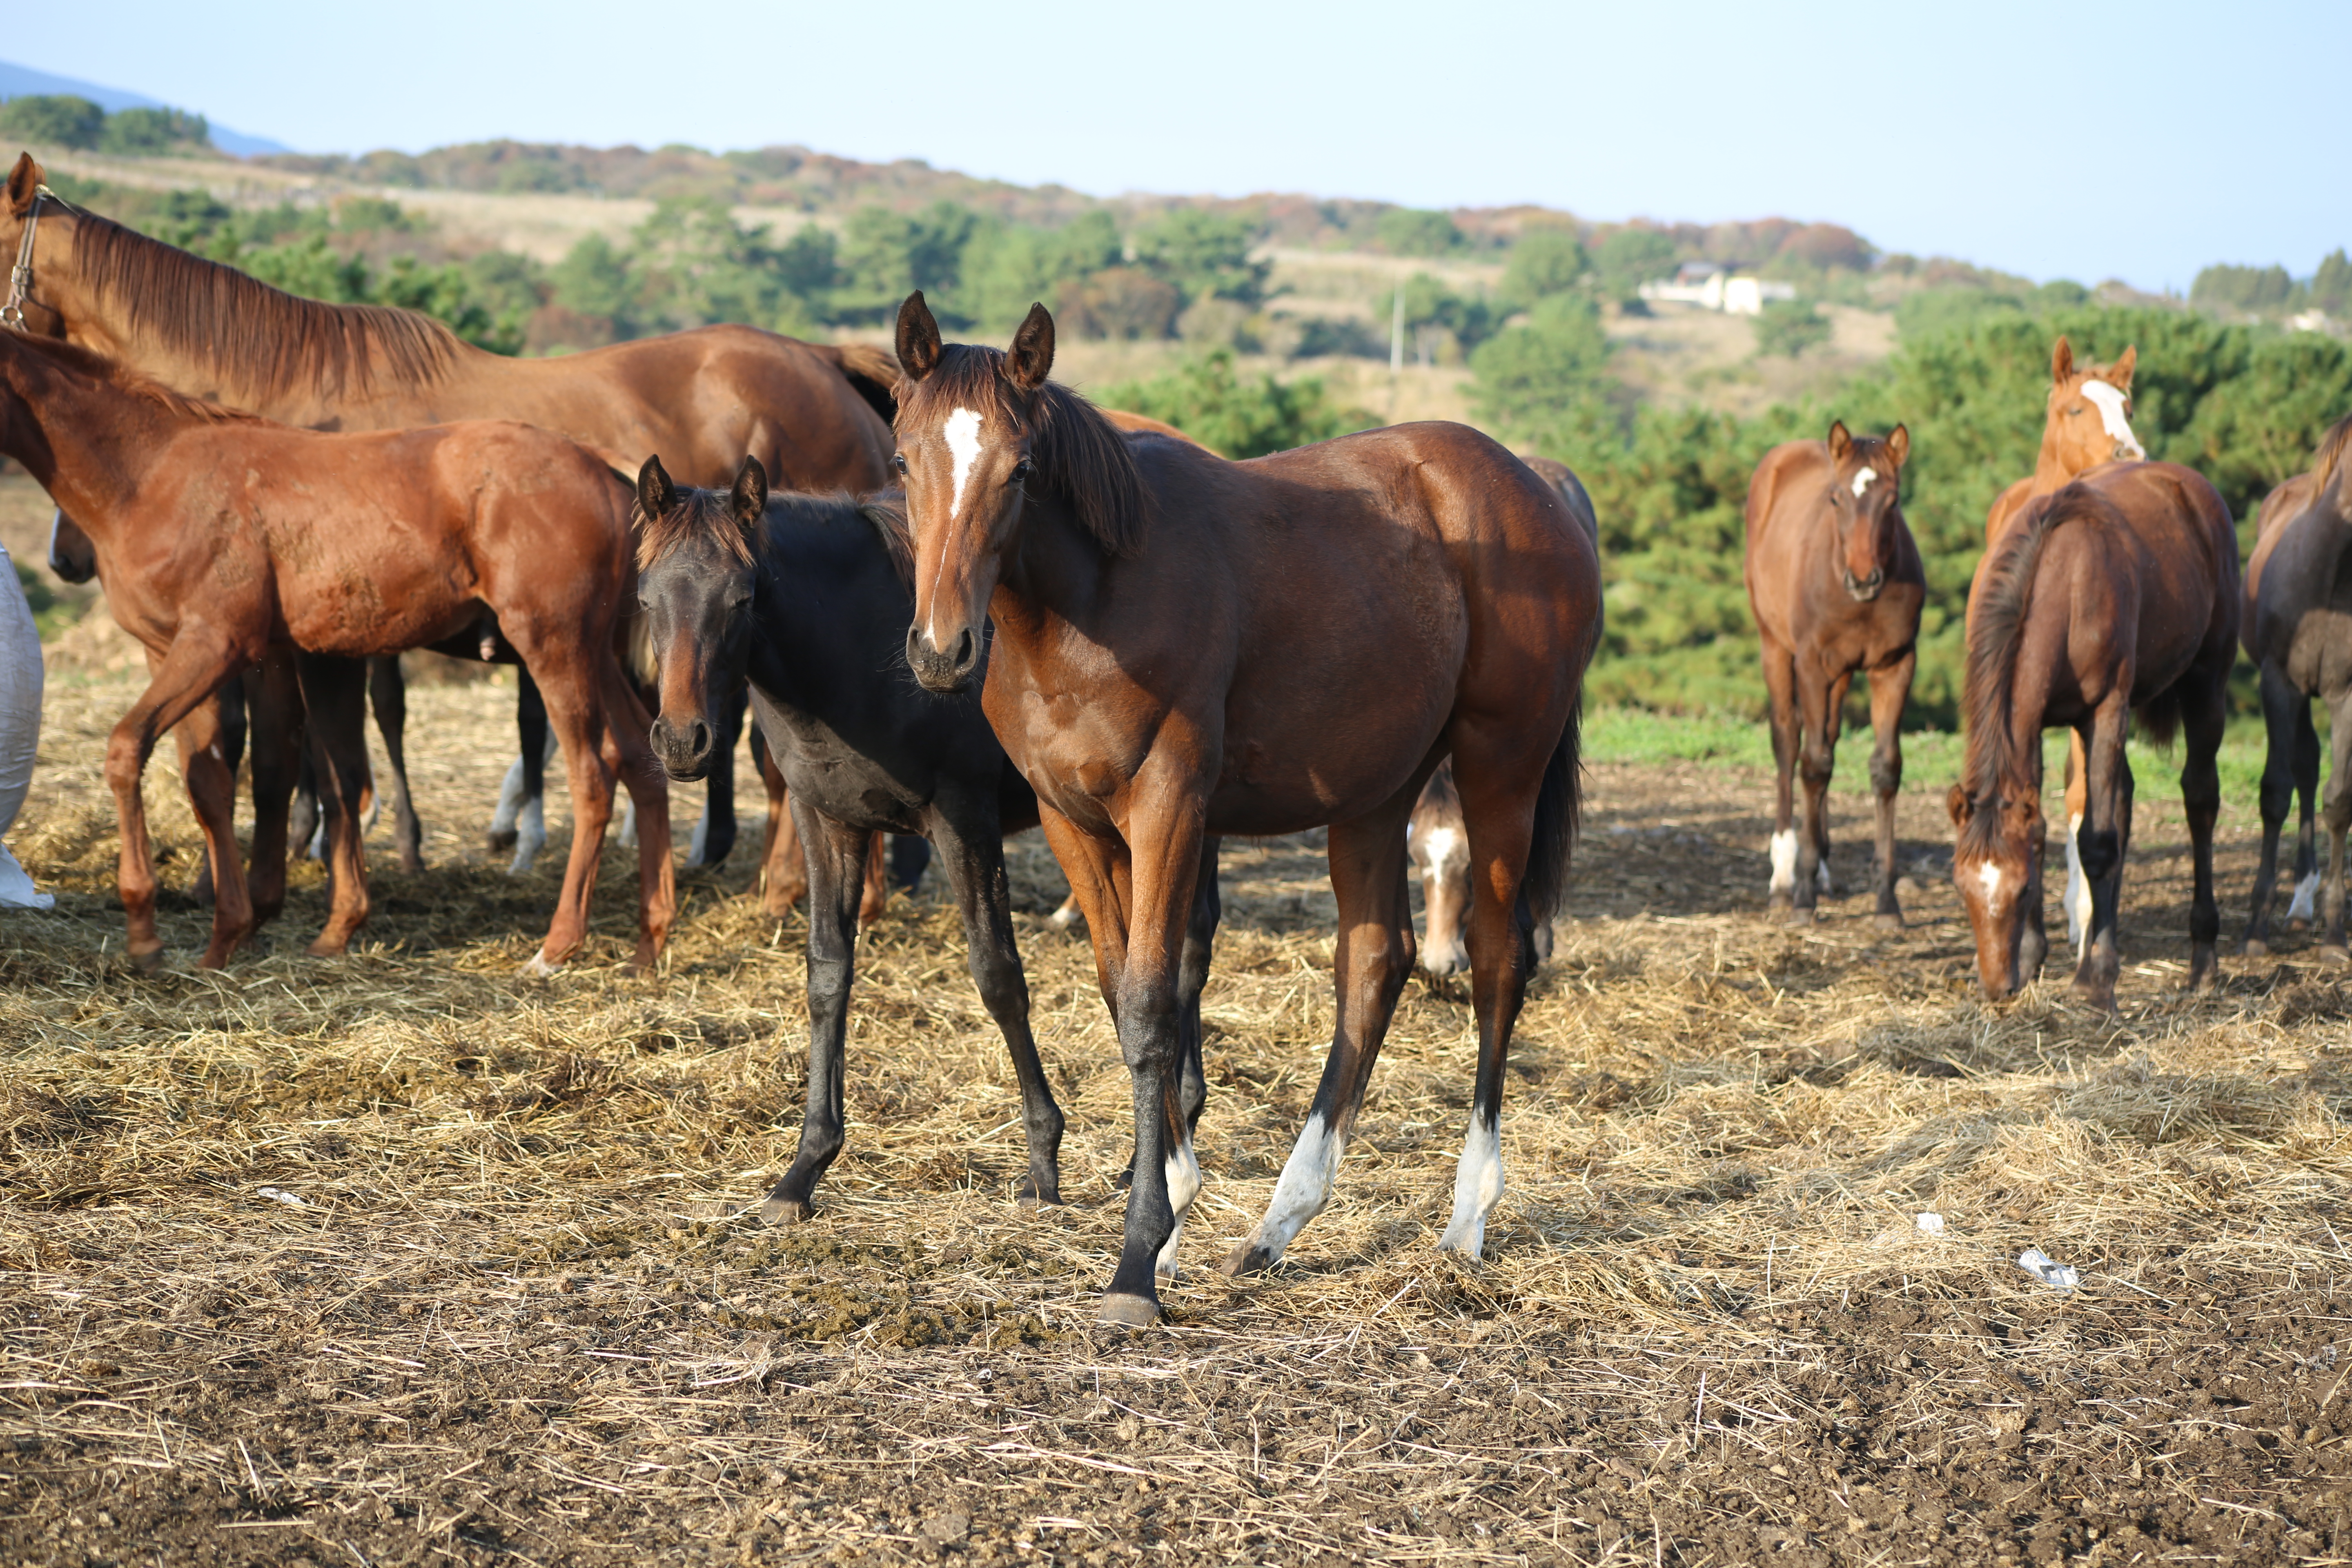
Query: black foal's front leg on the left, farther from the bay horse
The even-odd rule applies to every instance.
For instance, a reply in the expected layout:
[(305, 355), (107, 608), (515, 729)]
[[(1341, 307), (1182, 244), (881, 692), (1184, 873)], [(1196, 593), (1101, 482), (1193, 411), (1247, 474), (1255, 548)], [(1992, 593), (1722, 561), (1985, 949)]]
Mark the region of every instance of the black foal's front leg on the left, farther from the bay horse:
[(800, 1121), (793, 1168), (760, 1208), (760, 1218), (769, 1225), (807, 1220), (816, 1182), (842, 1152), (842, 1051), (849, 1034), (866, 844), (873, 839), (863, 827), (837, 823), (800, 799), (793, 802), (793, 816), (800, 820), (809, 867), (809, 1105)]

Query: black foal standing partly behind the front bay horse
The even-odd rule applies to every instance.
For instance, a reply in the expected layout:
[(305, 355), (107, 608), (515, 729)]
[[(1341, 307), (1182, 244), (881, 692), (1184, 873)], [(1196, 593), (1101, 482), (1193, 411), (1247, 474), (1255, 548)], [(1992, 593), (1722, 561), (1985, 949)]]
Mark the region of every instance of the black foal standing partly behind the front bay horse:
[[(896, 496), (769, 496), (755, 458), (734, 489), (670, 484), (661, 458), (637, 480), (637, 599), (661, 661), (654, 755), (670, 778), (724, 766), (710, 710), (750, 679), (760, 733), (790, 785), (809, 875), (809, 1103), (769, 1222), (809, 1218), (842, 1150), (842, 1053), (861, 922), (858, 886), (884, 832), (931, 839), (948, 867), (971, 980), (1021, 1084), (1023, 1199), (1061, 1201), (1061, 1107), (1037, 1065), (1028, 980), (1014, 947), (1004, 835), (1037, 825), (1037, 797), (1004, 759), (976, 701), (936, 698), (901, 658), (915, 590)], [(1185, 933), (1185, 1114), (1200, 1119), (1200, 990), (1216, 933), (1216, 849)]]

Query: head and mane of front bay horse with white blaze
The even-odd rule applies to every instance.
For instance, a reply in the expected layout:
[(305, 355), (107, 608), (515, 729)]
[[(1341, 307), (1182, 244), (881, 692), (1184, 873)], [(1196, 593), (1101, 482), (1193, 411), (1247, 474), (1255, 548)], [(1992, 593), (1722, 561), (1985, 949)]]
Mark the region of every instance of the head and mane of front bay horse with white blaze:
[(1030, 508), (1051, 503), (1112, 555), (1141, 538), (1143, 489), (1127, 440), (1054, 386), (1054, 317), (1030, 306), (1004, 350), (943, 343), (922, 294), (898, 308), (898, 449), (915, 536), (906, 663), (929, 691), (981, 668), (988, 602)]

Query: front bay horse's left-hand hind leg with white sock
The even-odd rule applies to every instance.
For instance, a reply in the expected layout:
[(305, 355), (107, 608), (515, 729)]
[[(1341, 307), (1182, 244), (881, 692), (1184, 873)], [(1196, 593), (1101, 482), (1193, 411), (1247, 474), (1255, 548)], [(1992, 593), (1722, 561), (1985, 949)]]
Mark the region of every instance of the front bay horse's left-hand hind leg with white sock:
[[(1463, 785), (1463, 806), (1468, 809), (1470, 788), (1458, 762), (1454, 778), (1456, 785)], [(1331, 1056), (1324, 1058), (1322, 1081), (1315, 1084), (1315, 1100), (1308, 1105), (1308, 1124), (1298, 1131), (1298, 1143), (1291, 1145), (1291, 1157), (1282, 1164), (1282, 1178), (1275, 1182), (1265, 1218), (1225, 1258), (1228, 1274), (1272, 1267), (1308, 1220), (1331, 1201), (1331, 1182), (1338, 1175), (1348, 1133), (1355, 1131), (1355, 1117), (1364, 1105), (1371, 1065), (1381, 1058), (1388, 1020), (1397, 1011), (1404, 978), (1414, 971), (1404, 823), (1414, 813), (1421, 785), (1423, 778), (1416, 776), (1404, 792), (1371, 816), (1331, 825), (1331, 893), (1338, 898), (1338, 943), (1331, 950), (1338, 1018), (1331, 1030)], [(1475, 839), (1470, 853), (1475, 867), (1479, 853)], [(1526, 863), (1524, 839), (1519, 863)], [(1475, 872), (1472, 884), (1477, 884)], [(1512, 940), (1517, 943), (1517, 933)], [(1475, 964), (1475, 914), (1470, 954)], [(1475, 1124), (1470, 1138), (1477, 1145)], [(1484, 1225), (1484, 1213), (1479, 1225)], [(1451, 1229), (1446, 1244), (1454, 1244)], [(1477, 1251), (1475, 1241), (1470, 1251)]]

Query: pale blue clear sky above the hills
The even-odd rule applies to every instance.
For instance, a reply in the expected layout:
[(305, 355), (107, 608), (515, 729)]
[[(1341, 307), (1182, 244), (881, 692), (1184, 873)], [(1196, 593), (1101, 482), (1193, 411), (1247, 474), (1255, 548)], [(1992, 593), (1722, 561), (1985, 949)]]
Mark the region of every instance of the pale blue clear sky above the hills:
[(2343, 0), (101, 0), (0, 49), (310, 150), (797, 141), (1098, 195), (1778, 214), (2150, 289), (2352, 244)]

